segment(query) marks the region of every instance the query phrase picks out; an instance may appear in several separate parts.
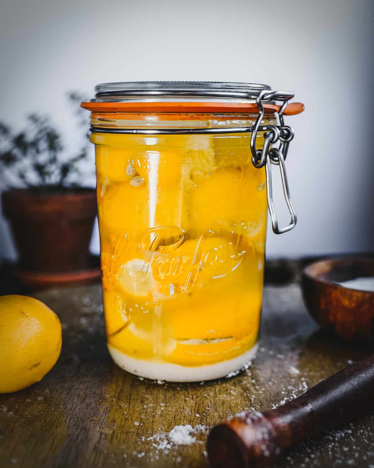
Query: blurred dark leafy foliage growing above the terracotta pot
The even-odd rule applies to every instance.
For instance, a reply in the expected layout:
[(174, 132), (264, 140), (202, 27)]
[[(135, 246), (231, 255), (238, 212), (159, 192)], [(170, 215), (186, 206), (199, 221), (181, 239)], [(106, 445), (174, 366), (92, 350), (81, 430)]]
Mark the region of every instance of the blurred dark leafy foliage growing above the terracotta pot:
[[(84, 96), (68, 93), (79, 127), (87, 125), (80, 102)], [(61, 191), (81, 185), (87, 173), (79, 166), (88, 156), (88, 133), (76, 154), (63, 157), (64, 145), (58, 130), (49, 117), (36, 113), (26, 117), (27, 125), (21, 132), (13, 132), (0, 122), (0, 181), (7, 188), (27, 187), (36, 191)], [(89, 173), (91, 175), (91, 173)]]

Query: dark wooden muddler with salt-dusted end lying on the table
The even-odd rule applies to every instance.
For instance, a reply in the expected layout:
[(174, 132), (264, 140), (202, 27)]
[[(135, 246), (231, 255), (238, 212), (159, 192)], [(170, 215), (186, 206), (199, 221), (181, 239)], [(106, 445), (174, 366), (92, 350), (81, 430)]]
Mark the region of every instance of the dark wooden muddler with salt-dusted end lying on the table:
[(279, 408), (240, 413), (215, 426), (207, 441), (213, 468), (271, 466), (305, 437), (350, 421), (374, 405), (374, 355), (323, 380)]

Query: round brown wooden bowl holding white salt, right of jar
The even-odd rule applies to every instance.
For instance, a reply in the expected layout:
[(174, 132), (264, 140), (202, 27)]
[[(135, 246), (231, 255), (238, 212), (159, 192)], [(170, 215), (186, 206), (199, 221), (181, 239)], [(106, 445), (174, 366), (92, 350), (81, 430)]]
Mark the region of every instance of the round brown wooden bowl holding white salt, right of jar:
[(302, 292), (310, 315), (321, 327), (345, 340), (374, 337), (374, 292), (336, 283), (363, 277), (374, 277), (374, 260), (322, 260), (302, 272)]

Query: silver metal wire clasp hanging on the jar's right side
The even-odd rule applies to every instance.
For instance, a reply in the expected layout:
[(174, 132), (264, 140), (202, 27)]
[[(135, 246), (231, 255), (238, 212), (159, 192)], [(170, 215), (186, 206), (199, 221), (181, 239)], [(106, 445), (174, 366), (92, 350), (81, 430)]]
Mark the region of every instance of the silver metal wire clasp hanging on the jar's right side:
[[(287, 231), (290, 231), (295, 227), (297, 221), (295, 208), (292, 204), (291, 196), (289, 194), (286, 166), (284, 162), (287, 157), (290, 141), (294, 138), (294, 130), (288, 125), (284, 124), (283, 112), (287, 107), (288, 100), (293, 97), (294, 93), (290, 93), (288, 91), (260, 91), (256, 101), (257, 107), (259, 109), (259, 115), (257, 117), (256, 123), (253, 126), (251, 135), (252, 164), (255, 168), (262, 168), (265, 166), (267, 206), (269, 208), (270, 218), (272, 220), (273, 232), (275, 234), (283, 234)], [(264, 106), (262, 105), (263, 99), (283, 101), (281, 109), (279, 110), (280, 126), (276, 127), (270, 125), (266, 127), (266, 132), (264, 133), (265, 141), (262, 149), (256, 149), (257, 134), (264, 128), (261, 127), (261, 122), (264, 117)], [(276, 143), (278, 140), (280, 141), (279, 147), (271, 148), (270, 145)], [(288, 224), (288, 226), (281, 228), (278, 227), (278, 218), (275, 212), (273, 200), (272, 164), (279, 165), (281, 171), (283, 194), (288, 206), (288, 211), (291, 215), (291, 222)]]

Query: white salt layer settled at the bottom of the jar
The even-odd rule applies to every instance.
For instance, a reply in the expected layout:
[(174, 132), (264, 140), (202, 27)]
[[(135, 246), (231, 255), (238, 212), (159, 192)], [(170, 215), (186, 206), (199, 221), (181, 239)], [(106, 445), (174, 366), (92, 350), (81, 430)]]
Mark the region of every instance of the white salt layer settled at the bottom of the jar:
[(169, 382), (201, 382), (219, 379), (245, 368), (256, 357), (258, 344), (236, 358), (206, 366), (180, 366), (160, 361), (146, 361), (128, 356), (108, 344), (108, 350), (115, 363), (125, 371), (139, 377)]

